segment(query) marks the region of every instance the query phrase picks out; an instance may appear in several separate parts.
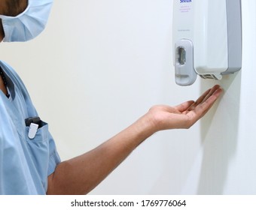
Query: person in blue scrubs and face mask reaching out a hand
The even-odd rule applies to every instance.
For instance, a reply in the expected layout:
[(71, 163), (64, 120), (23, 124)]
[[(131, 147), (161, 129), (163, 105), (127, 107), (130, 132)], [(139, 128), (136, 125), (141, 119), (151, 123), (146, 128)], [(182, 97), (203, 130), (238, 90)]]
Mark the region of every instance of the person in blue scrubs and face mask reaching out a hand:
[[(44, 29), (52, 0), (0, 0), (0, 40), (27, 41)], [(151, 107), (136, 122), (92, 151), (61, 161), (22, 80), (0, 62), (0, 194), (86, 194), (139, 144), (160, 130), (189, 128), (221, 95), (220, 86), (197, 101)]]

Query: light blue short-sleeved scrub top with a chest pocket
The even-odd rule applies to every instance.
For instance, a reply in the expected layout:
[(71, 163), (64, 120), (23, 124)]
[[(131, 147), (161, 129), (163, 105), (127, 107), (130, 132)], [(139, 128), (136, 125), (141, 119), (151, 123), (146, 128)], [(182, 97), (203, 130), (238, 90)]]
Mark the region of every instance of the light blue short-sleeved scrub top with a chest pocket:
[(38, 116), (23, 82), (6, 63), (0, 66), (11, 97), (0, 91), (0, 194), (45, 194), (47, 176), (60, 162), (47, 123), (29, 139), (25, 119)]

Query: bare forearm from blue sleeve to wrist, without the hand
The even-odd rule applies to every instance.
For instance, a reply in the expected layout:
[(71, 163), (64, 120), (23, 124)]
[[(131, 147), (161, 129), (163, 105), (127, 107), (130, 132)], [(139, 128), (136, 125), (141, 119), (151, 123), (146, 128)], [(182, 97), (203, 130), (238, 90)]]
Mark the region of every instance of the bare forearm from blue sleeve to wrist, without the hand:
[(156, 130), (149, 115), (139, 118), (97, 148), (59, 163), (48, 178), (48, 194), (85, 194), (98, 185)]

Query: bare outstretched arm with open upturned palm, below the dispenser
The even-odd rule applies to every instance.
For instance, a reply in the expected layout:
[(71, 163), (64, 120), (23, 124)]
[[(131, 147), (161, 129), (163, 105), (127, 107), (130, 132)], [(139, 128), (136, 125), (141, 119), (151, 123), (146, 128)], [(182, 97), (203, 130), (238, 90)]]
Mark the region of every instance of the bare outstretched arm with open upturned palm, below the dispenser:
[(92, 151), (63, 161), (48, 177), (48, 194), (86, 194), (93, 190), (140, 143), (159, 130), (189, 128), (203, 117), (221, 95), (220, 86), (197, 101), (176, 107), (155, 106), (138, 121)]

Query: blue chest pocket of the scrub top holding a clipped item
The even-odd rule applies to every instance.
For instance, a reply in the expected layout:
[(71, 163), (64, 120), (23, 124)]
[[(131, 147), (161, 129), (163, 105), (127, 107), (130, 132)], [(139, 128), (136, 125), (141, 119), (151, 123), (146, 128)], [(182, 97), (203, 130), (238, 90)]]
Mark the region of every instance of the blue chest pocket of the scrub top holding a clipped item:
[(34, 177), (37, 177), (43, 187), (46, 189), (47, 187), (47, 172), (49, 166), (49, 132), (48, 132), (48, 124), (44, 121), (40, 121), (38, 129), (35, 132), (34, 137), (29, 137), (29, 127), (31, 125), (26, 126), (26, 142), (27, 148), (30, 154), (30, 160), (32, 164), (35, 166), (32, 170)]

